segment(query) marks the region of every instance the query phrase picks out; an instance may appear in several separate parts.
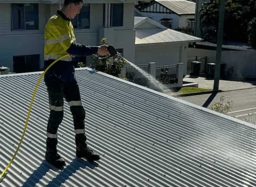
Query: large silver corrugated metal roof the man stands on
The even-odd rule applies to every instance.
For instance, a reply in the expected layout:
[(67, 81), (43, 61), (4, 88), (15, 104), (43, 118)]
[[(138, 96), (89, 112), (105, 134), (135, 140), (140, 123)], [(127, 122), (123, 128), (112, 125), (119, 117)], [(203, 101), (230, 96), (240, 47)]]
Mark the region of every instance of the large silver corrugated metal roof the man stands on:
[[(46, 161), (48, 99), (43, 82), (21, 149), (1, 187), (252, 187), (256, 133), (249, 123), (130, 82), (76, 70), (96, 162), (75, 158), (72, 116), (58, 131), (67, 166)], [(40, 73), (0, 77), (0, 169), (13, 156)], [(250, 126), (251, 125), (251, 126)]]

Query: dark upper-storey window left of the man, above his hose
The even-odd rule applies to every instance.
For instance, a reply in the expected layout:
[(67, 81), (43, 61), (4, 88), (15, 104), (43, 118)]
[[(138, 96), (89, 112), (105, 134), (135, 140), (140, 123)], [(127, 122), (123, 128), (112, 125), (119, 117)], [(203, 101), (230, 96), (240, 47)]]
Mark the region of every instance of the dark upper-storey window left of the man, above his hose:
[(12, 30), (38, 29), (38, 4), (12, 4)]

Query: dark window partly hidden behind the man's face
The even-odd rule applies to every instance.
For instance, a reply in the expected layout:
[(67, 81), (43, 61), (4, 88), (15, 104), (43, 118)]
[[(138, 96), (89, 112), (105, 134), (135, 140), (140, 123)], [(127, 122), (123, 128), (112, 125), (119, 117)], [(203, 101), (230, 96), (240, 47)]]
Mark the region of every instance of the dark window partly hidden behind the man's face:
[(80, 14), (71, 20), (73, 27), (76, 29), (90, 28), (90, 5), (84, 4), (80, 10)]

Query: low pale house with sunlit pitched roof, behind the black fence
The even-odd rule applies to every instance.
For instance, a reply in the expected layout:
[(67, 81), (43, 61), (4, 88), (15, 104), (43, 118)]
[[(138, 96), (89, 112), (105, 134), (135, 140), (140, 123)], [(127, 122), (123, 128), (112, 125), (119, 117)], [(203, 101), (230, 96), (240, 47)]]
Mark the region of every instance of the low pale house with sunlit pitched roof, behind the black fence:
[[(148, 17), (134, 17), (135, 64), (155, 62), (156, 66), (184, 63), (187, 67), (188, 43), (202, 39), (168, 29)], [(183, 75), (187, 69), (184, 68)]]

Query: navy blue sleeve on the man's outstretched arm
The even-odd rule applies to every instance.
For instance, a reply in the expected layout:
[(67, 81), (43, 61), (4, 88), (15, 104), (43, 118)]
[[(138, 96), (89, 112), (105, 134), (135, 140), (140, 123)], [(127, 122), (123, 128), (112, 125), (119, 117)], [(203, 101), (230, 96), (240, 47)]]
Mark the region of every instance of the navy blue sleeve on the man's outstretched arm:
[(79, 43), (72, 43), (67, 53), (74, 56), (89, 56), (98, 52), (98, 46), (88, 46)]

